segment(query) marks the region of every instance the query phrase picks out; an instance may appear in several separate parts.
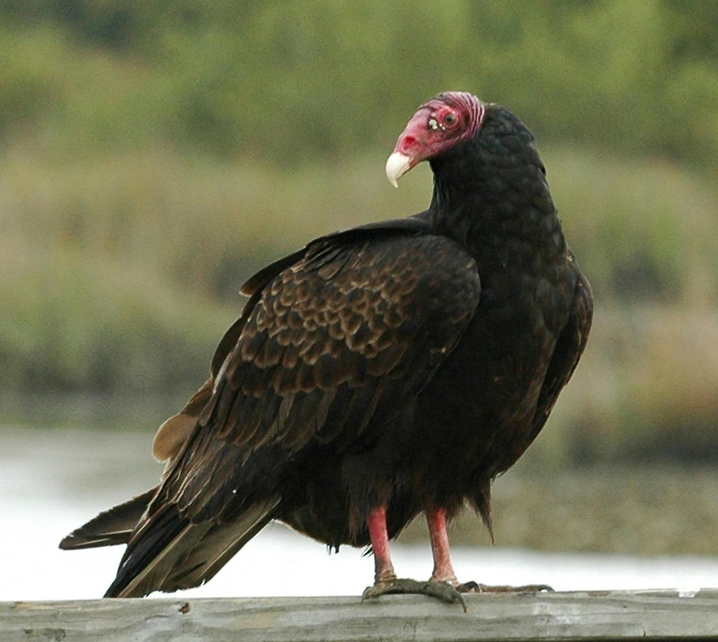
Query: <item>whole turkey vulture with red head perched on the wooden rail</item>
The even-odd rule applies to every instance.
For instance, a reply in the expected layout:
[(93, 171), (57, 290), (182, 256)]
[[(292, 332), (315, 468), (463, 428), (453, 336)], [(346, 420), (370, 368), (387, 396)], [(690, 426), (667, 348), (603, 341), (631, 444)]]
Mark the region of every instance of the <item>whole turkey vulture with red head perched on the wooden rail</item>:
[[(386, 164), (429, 160), (429, 208), (309, 242), (243, 286), (211, 376), (154, 441), (159, 485), (63, 549), (127, 544), (106, 597), (195, 587), (271, 520), (332, 549), (370, 546), (365, 597), (459, 600), (447, 522), (546, 423), (586, 343), (589, 283), (567, 249), (533, 136), (508, 109), (447, 92)], [(388, 542), (425, 513), (429, 582)]]

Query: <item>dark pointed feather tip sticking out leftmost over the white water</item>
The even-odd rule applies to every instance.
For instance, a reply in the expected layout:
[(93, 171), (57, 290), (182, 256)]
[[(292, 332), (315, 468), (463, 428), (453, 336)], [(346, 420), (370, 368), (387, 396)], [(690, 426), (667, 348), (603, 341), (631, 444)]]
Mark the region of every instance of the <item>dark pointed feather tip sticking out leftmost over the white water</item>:
[(127, 544), (155, 492), (157, 487), (150, 488), (125, 503), (104, 510), (62, 539), (60, 549), (71, 551), (91, 549), (95, 546)]

